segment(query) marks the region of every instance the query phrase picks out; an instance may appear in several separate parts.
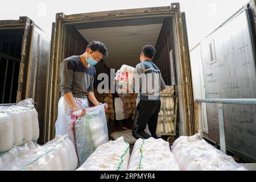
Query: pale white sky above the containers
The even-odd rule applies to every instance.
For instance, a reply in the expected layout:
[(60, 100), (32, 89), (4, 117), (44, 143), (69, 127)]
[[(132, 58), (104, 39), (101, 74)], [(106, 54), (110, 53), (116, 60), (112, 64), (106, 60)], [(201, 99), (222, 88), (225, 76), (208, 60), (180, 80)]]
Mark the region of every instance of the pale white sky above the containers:
[(189, 48), (192, 49), (249, 0), (7, 0), (0, 4), (0, 20), (28, 16), (51, 34), (56, 13), (79, 14), (96, 11), (170, 6), (179, 2), (187, 17)]

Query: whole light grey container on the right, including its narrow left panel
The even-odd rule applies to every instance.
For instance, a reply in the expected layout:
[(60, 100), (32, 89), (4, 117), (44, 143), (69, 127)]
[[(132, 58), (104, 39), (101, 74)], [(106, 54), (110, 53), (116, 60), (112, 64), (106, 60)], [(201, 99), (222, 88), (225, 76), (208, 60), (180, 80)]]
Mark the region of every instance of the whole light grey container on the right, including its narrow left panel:
[[(256, 98), (255, 20), (254, 0), (191, 50), (195, 98)], [(219, 142), (217, 104), (202, 107), (205, 138)], [(255, 106), (224, 105), (224, 124), (227, 149), (255, 162)]]

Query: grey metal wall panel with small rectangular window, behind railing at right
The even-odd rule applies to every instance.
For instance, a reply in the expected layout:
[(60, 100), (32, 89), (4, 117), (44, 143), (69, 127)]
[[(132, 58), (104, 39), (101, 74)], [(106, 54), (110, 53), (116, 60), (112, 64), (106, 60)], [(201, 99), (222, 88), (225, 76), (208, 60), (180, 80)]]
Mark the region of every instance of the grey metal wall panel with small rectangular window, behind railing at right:
[[(256, 74), (243, 11), (201, 42), (206, 98), (256, 98)], [(219, 141), (217, 105), (207, 104), (209, 139)], [(256, 159), (254, 106), (224, 105), (226, 144)]]

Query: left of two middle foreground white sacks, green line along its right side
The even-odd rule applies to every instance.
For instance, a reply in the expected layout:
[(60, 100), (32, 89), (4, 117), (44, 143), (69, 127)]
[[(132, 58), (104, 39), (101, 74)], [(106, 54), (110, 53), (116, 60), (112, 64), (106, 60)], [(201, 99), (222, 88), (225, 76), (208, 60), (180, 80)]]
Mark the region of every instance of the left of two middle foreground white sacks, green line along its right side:
[(130, 146), (123, 138), (98, 147), (77, 171), (126, 171)]

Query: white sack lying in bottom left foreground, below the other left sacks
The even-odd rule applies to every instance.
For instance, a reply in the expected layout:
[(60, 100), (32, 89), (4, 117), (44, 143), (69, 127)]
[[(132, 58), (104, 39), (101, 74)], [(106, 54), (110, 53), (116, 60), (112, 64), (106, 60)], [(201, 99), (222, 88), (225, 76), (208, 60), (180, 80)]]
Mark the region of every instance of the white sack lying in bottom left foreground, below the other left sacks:
[(44, 146), (31, 147), (23, 155), (11, 155), (17, 159), (0, 167), (1, 171), (74, 171), (77, 167), (75, 146), (67, 135), (58, 136)]

